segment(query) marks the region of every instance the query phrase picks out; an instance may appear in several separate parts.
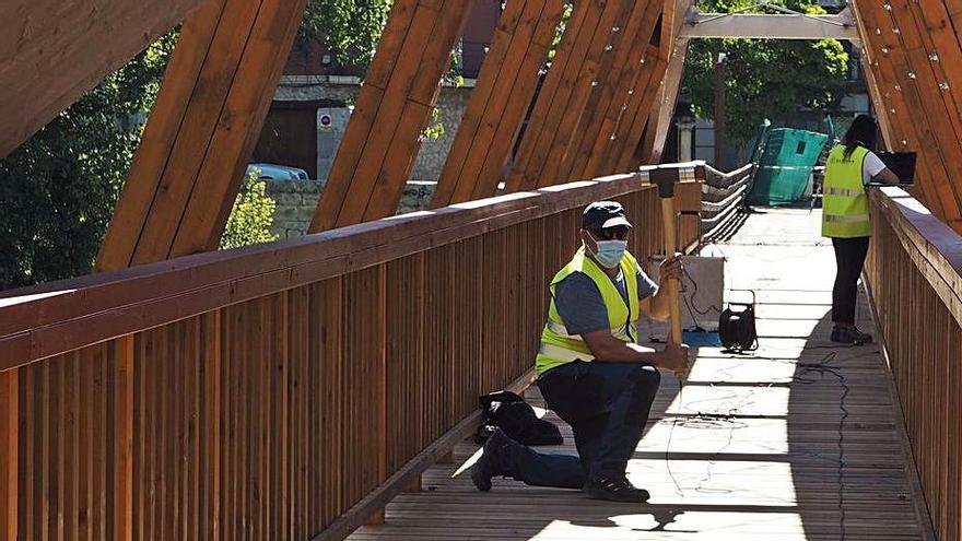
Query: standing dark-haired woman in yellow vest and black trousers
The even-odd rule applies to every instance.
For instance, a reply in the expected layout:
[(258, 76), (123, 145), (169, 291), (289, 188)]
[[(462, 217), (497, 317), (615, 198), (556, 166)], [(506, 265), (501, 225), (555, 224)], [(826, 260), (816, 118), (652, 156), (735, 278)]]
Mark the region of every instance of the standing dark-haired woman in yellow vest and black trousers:
[(835, 249), (835, 285), (832, 287), (832, 341), (864, 344), (872, 337), (855, 327), (858, 277), (865, 266), (871, 221), (866, 186), (872, 178), (899, 184), (871, 149), (876, 146), (876, 120), (858, 115), (825, 162), (822, 195), (822, 236)]

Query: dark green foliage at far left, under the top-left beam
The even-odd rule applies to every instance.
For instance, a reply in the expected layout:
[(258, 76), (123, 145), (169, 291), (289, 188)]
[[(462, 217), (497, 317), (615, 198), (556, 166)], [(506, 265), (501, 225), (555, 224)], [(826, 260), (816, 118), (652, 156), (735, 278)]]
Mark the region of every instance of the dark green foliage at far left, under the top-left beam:
[(120, 68), (0, 160), (0, 289), (90, 272), (172, 33)]

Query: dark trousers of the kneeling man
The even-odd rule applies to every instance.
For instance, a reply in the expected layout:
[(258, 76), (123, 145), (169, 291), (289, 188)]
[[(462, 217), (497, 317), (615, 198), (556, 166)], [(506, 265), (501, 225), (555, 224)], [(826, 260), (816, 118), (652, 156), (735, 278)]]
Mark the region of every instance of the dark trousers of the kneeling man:
[(507, 449), (513, 478), (537, 486), (580, 489), (588, 474), (624, 477), (642, 438), (661, 375), (630, 363), (575, 361), (538, 378), (548, 407), (568, 423), (578, 456)]

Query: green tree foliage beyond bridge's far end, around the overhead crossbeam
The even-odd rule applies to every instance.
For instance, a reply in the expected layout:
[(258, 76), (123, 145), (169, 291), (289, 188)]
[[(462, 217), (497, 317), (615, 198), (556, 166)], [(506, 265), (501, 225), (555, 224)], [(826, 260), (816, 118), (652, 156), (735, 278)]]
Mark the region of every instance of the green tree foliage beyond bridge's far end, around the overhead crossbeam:
[[(703, 0), (702, 12), (728, 13), (753, 4), (747, 0)], [(808, 14), (823, 14), (803, 0), (772, 3)], [(758, 12), (749, 10), (746, 12)], [(765, 118), (784, 119), (799, 108), (834, 113), (844, 93), (848, 55), (834, 39), (700, 39), (689, 46), (683, 87), (693, 113), (714, 116), (714, 63), (725, 52), (728, 136), (747, 142)]]

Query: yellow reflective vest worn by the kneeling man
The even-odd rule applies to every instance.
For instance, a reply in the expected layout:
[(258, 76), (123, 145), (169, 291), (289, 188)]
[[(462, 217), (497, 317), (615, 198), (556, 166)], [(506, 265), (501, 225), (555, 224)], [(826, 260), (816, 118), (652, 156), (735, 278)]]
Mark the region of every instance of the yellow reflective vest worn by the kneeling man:
[(573, 272), (583, 272), (588, 275), (601, 292), (605, 307), (608, 308), (608, 325), (611, 334), (625, 342), (637, 341), (638, 320), (638, 262), (627, 251), (621, 259), (621, 272), (624, 274), (624, 283), (627, 289), (629, 303), (625, 305), (624, 297), (618, 291), (618, 286), (605, 270), (594, 259), (585, 255), (584, 246), (575, 252), (574, 258), (551, 279), (548, 289), (551, 291), (551, 306), (548, 309), (548, 322), (541, 331), (541, 348), (535, 366), (538, 374), (554, 368), (555, 366), (571, 363), (572, 361), (593, 361), (591, 350), (579, 334), (570, 334), (564, 327), (564, 321), (558, 314), (554, 305), (554, 293), (558, 284)]

